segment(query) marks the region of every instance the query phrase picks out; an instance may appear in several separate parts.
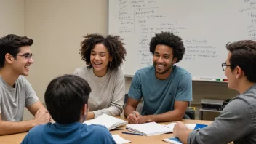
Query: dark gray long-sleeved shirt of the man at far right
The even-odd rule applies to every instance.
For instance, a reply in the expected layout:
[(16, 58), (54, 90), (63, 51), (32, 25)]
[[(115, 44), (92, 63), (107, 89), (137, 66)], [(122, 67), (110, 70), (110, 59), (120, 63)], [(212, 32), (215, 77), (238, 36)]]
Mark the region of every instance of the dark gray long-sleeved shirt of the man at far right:
[(208, 127), (194, 130), (189, 144), (256, 143), (256, 84), (234, 97)]

